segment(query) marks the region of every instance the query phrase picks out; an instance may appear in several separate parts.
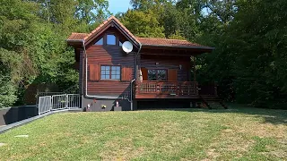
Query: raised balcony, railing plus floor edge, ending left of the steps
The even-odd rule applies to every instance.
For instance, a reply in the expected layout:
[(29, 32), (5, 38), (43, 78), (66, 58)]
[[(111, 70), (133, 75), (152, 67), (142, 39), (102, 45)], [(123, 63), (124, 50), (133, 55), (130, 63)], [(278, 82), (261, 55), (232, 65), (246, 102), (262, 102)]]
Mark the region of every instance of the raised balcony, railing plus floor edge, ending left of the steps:
[(196, 81), (136, 81), (135, 98), (196, 98)]

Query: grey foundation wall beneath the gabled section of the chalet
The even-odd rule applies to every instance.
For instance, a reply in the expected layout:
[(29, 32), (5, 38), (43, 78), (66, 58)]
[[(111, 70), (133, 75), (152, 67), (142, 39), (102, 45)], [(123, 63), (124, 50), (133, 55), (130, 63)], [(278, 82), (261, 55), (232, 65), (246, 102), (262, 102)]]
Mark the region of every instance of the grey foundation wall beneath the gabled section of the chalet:
[[(83, 111), (87, 112), (100, 112), (100, 111), (114, 111), (114, 106), (116, 106), (116, 103), (119, 103), (119, 106), (122, 106), (123, 111), (130, 111), (131, 110), (131, 103), (127, 100), (123, 99), (100, 99), (100, 98), (88, 98), (88, 97), (82, 97), (82, 108)], [(90, 109), (88, 109), (88, 105), (90, 105)], [(107, 106), (106, 108), (101, 108), (101, 105)]]

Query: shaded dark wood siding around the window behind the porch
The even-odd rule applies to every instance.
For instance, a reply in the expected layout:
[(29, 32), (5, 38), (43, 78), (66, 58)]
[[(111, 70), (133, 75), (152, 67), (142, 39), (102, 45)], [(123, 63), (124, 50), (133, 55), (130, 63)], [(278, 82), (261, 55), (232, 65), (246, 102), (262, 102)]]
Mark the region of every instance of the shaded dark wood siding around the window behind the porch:
[[(181, 69), (179, 67), (181, 65)], [(165, 56), (165, 55), (141, 55), (140, 67), (146, 69), (173, 70), (178, 76), (171, 80), (188, 81), (190, 71), (190, 58), (187, 56)], [(172, 76), (174, 77), (174, 76)], [(168, 80), (169, 73), (168, 73)]]

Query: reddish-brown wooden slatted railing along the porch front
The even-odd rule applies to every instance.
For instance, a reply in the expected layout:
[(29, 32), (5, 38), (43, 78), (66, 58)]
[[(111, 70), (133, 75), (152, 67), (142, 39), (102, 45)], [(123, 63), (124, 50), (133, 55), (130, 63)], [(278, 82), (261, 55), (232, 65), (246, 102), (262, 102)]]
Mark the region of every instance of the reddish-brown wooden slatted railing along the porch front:
[(198, 83), (196, 81), (136, 81), (136, 94), (198, 95)]

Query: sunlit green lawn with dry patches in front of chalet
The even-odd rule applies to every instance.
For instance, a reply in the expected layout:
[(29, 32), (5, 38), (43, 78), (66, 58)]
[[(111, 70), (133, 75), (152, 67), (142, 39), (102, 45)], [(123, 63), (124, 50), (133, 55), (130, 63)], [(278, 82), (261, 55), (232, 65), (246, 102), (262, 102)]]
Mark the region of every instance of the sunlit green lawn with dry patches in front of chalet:
[(0, 160), (284, 160), (286, 123), (244, 106), (54, 114), (0, 134)]

